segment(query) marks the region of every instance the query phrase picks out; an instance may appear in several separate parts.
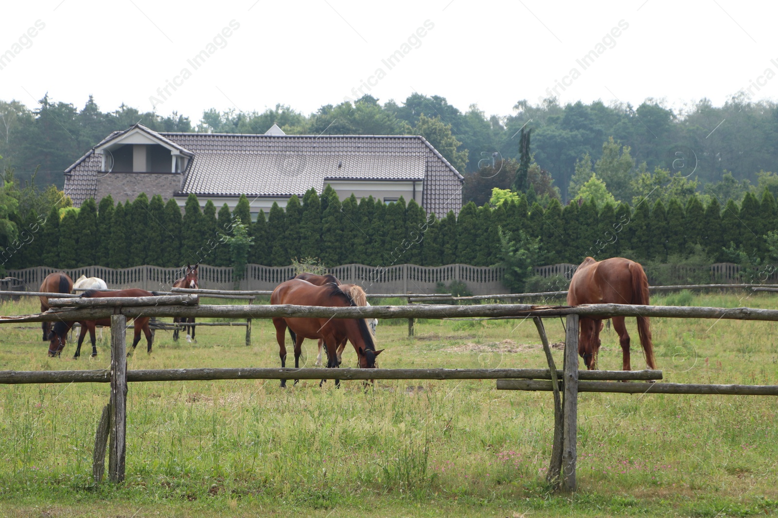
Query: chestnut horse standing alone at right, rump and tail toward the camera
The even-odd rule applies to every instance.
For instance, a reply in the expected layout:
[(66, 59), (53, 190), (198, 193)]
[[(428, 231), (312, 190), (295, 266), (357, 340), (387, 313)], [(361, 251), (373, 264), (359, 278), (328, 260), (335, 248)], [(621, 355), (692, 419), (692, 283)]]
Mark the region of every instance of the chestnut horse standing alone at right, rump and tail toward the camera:
[[(584, 259), (578, 266), (567, 292), (567, 304), (639, 304), (648, 305), (648, 278), (639, 263), (614, 257), (604, 261), (595, 261), (591, 257)], [(597, 355), (600, 350), (600, 331), (602, 318), (580, 318), (578, 354), (584, 358), (588, 369), (597, 368)], [(631, 370), (629, 365), (629, 334), (624, 325), (624, 317), (613, 317), (613, 329), (619, 333), (622, 346), (623, 370)], [(637, 332), (640, 345), (646, 355), (646, 363), (651, 369), (657, 368), (654, 360), (654, 344), (651, 342), (651, 328), (648, 317), (637, 317)]]

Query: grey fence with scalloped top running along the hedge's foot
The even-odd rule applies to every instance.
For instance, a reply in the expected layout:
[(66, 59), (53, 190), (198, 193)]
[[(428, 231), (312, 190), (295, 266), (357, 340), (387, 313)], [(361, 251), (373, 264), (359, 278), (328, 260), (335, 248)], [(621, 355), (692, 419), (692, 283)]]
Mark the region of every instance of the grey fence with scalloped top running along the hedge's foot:
[[(549, 266), (536, 266), (534, 273), (539, 276), (563, 276), (569, 280), (578, 266), (560, 263)], [(44, 277), (49, 273), (64, 271), (73, 280), (79, 276), (100, 277), (111, 288), (141, 288), (143, 290), (170, 290), (173, 280), (184, 274), (182, 268), (162, 268), (159, 266), (135, 266), (133, 268), (113, 269), (105, 266), (84, 266), (73, 269), (57, 269), (48, 266), (9, 270), (8, 275), (18, 281), (7, 280), (4, 290), (16, 290), (16, 286), (25, 290), (37, 290)], [(368, 294), (408, 293), (433, 294), (440, 286), (450, 283), (464, 283), (473, 295), (504, 294), (509, 290), (503, 285), (502, 266), (469, 266), (449, 264), (445, 266), (416, 266), (399, 264), (394, 266), (366, 266), (347, 264), (329, 268), (344, 283), (359, 284)], [(223, 266), (200, 265), (200, 286), (216, 290), (273, 290), (276, 286), (295, 275), (293, 266), (247, 266), (246, 277), (239, 283), (234, 282), (233, 269)], [(710, 266), (658, 265), (647, 267), (650, 283), (743, 283), (750, 282), (741, 276), (741, 267), (732, 262), (718, 262)], [(662, 280), (662, 282), (658, 282)], [(760, 283), (778, 283), (778, 271), (759, 278)], [(15, 284), (14, 284), (15, 283)]]

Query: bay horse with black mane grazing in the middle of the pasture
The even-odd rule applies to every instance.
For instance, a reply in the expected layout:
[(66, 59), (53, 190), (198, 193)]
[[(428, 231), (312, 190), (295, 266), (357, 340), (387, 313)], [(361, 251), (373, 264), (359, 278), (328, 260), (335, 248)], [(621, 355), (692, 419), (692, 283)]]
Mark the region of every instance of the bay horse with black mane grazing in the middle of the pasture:
[[(302, 279), (290, 279), (279, 284), (270, 296), (270, 304), (298, 304), (304, 306), (325, 306), (328, 308), (345, 308), (356, 306), (348, 292), (343, 291), (335, 283), (316, 286)], [(364, 318), (273, 318), (275, 339), (279, 342), (279, 357), (281, 367), (286, 367), (286, 329), (294, 341), (295, 368), (300, 368), (300, 348), (303, 339), (324, 339), (327, 350), (327, 367), (338, 367), (336, 348), (338, 344), (348, 339), (356, 350), (359, 367), (374, 369), (376, 358), (384, 350), (376, 350), (373, 335), (367, 327)], [(321, 385), (321, 384), (320, 384)], [(335, 381), (339, 385), (339, 381)], [(281, 381), (286, 387), (286, 380)]]

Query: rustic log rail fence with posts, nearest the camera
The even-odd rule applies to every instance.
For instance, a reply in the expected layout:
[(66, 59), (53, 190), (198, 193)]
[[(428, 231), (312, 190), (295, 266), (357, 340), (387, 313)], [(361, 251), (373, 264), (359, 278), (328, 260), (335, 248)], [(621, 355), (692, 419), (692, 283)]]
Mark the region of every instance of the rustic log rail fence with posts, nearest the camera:
[[(669, 318), (731, 318), (740, 320), (778, 321), (778, 311), (755, 308), (692, 308), (671, 306), (632, 306), (624, 304), (586, 304), (577, 307), (550, 307), (530, 304), (483, 304), (473, 306), (371, 306), (325, 308), (321, 306), (201, 306), (159, 305), (160, 302), (191, 303), (191, 295), (172, 297), (140, 297), (133, 304), (157, 305), (107, 306), (100, 299), (51, 299), (52, 310), (41, 315), (0, 317), (2, 322), (51, 322), (52, 320), (82, 320), (107, 318), (111, 321), (111, 367), (105, 370), (0, 372), (0, 383), (89, 383), (110, 382), (110, 400), (103, 408), (98, 422), (93, 478), (100, 481), (104, 457), (110, 439), (109, 478), (124, 480), (126, 457), (126, 401), (128, 382), (132, 381), (187, 381), (225, 379), (319, 379), (322, 376), (340, 380), (367, 379), (496, 379), (496, 388), (503, 390), (552, 391), (554, 393), (554, 440), (548, 481), (563, 491), (576, 489), (577, 402), (579, 391), (662, 394), (727, 394), (778, 395), (776, 385), (710, 385), (710, 384), (645, 384), (603, 383), (601, 380), (657, 380), (661, 371), (578, 371), (578, 325), (580, 315), (663, 316)], [(187, 298), (188, 297), (188, 298)], [(79, 308), (65, 308), (79, 304)], [(127, 318), (145, 316), (195, 316), (229, 318), (318, 317), (318, 318), (448, 318), (450, 316), (533, 318), (541, 336), (548, 369), (163, 369), (127, 370), (124, 329)], [(566, 316), (565, 361), (562, 371), (555, 363), (548, 344), (541, 317)], [(326, 372), (326, 374), (323, 374)], [(546, 380), (546, 381), (538, 381)], [(599, 381), (598, 381), (599, 380)]]

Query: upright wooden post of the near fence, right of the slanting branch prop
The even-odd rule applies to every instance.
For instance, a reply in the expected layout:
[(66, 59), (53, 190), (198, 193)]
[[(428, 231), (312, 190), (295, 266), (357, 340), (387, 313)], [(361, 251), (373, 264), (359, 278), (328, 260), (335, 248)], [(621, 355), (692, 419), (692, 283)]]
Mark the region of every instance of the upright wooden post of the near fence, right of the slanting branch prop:
[(578, 433), (578, 315), (567, 315), (564, 370), (564, 450), (562, 491), (576, 490), (576, 438)]

